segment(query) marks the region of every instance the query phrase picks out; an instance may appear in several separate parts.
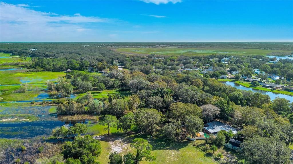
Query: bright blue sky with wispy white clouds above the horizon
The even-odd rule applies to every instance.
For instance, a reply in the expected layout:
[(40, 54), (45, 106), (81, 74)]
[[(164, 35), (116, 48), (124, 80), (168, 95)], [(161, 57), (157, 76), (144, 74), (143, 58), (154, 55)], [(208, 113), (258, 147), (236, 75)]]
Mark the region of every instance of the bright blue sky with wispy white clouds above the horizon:
[(293, 41), (293, 1), (1, 1), (0, 41)]

